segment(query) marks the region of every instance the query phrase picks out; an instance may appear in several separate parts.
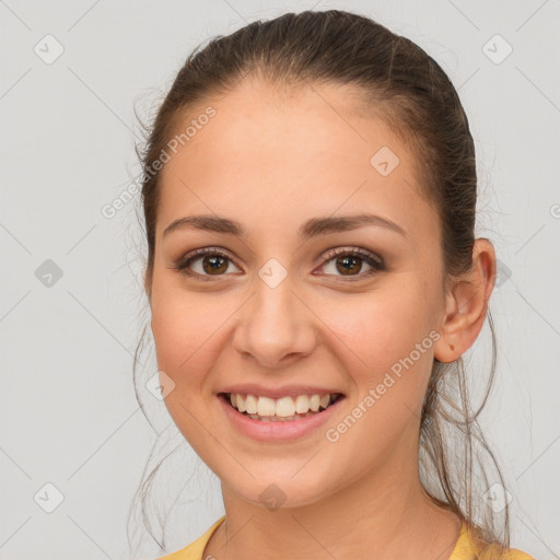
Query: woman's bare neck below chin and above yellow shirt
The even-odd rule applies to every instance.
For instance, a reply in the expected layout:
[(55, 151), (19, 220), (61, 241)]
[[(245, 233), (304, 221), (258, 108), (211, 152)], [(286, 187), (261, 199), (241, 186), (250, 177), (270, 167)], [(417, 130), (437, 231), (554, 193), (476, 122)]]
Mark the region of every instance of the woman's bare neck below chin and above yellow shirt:
[(269, 510), (222, 483), (225, 520), (203, 558), (447, 560), (460, 520), (423, 490), (415, 462), (385, 466), (299, 508)]

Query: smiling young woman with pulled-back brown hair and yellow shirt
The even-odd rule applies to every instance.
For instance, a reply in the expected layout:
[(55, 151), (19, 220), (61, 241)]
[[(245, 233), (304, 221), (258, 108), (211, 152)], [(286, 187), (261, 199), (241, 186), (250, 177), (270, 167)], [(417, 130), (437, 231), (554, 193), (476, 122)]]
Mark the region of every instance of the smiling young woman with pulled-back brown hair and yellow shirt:
[(165, 406), (225, 509), (163, 558), (530, 559), (471, 483), (497, 266), (440, 66), (345, 11), (252, 23), (188, 58), (141, 156)]

